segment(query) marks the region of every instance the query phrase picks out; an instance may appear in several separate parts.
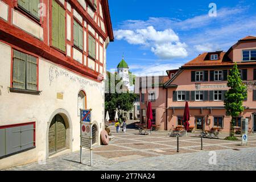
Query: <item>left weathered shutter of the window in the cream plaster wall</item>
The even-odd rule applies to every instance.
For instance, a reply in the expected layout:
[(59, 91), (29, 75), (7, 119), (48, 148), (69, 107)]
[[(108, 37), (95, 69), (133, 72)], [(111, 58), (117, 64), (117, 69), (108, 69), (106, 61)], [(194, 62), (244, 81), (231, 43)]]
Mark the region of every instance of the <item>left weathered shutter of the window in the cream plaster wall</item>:
[(26, 54), (13, 52), (13, 88), (26, 89)]

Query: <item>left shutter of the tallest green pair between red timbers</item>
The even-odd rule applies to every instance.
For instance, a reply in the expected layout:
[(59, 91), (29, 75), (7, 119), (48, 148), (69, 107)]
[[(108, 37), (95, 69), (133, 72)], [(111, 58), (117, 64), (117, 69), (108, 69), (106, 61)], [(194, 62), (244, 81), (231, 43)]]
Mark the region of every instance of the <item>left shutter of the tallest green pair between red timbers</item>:
[(59, 5), (52, 1), (52, 46), (59, 48)]

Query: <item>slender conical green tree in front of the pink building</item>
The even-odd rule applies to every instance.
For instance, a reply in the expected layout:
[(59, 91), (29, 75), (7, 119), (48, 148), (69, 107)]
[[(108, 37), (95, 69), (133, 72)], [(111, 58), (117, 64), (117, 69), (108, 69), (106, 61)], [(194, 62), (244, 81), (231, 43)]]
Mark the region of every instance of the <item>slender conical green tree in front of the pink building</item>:
[(243, 107), (243, 101), (247, 98), (247, 88), (242, 82), (241, 73), (237, 68), (237, 64), (230, 70), (228, 86), (230, 89), (225, 94), (226, 99), (224, 105), (226, 113), (232, 116), (232, 120), (230, 121), (230, 137), (234, 137), (235, 118), (245, 109)]

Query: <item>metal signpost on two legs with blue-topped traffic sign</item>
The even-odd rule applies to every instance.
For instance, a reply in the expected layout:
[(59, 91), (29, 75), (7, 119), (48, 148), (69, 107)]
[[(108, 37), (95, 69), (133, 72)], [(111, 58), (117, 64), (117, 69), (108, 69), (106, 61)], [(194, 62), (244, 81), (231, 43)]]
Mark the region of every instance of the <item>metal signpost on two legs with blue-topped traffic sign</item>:
[(90, 149), (90, 166), (92, 166), (92, 122), (90, 110), (80, 109), (80, 163), (82, 164), (82, 147)]

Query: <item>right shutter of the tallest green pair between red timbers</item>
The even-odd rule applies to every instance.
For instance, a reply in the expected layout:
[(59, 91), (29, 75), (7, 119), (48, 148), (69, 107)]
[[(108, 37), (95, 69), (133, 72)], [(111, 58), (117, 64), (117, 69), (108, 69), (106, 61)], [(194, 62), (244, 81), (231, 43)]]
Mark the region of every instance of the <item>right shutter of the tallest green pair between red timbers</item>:
[(65, 10), (59, 6), (59, 49), (66, 51)]

